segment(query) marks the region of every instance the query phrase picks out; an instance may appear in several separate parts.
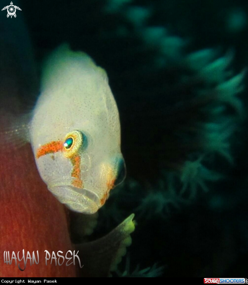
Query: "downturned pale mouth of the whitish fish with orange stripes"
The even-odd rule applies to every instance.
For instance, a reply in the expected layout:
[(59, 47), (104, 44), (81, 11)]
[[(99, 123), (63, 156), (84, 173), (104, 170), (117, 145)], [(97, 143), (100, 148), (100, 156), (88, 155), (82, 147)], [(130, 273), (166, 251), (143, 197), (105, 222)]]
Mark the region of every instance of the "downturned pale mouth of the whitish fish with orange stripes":
[(91, 215), (101, 207), (97, 194), (88, 189), (70, 185), (56, 185), (48, 189), (61, 203), (75, 212)]

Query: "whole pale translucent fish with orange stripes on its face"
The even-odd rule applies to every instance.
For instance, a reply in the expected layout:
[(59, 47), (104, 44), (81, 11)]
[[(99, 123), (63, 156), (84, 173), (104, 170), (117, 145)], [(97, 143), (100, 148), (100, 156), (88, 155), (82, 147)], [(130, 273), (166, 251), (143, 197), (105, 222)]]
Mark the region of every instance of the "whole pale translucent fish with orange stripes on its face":
[(29, 137), (41, 178), (71, 210), (93, 214), (125, 177), (119, 113), (107, 75), (67, 45), (44, 65)]

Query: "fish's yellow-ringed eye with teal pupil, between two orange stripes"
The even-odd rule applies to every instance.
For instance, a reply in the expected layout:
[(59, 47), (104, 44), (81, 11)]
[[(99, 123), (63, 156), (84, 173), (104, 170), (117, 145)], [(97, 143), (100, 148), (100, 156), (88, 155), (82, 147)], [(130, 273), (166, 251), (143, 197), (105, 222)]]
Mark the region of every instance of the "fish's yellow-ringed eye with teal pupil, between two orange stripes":
[(63, 143), (63, 154), (65, 157), (76, 155), (83, 144), (83, 134), (79, 131), (72, 131), (65, 136)]

